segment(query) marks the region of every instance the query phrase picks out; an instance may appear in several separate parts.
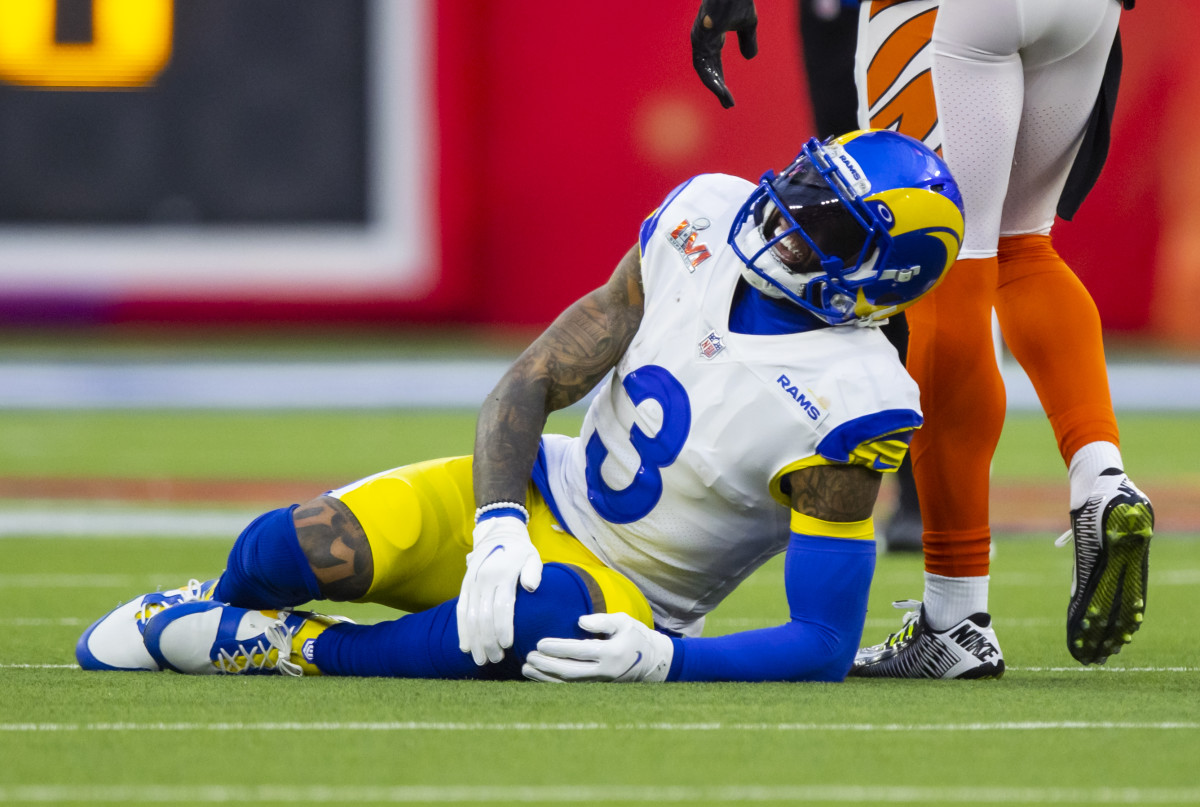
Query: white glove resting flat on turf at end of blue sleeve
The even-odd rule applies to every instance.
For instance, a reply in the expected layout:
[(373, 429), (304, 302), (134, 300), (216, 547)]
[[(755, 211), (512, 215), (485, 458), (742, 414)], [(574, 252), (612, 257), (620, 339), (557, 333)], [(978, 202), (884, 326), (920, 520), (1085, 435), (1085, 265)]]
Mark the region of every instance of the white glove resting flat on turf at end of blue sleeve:
[(674, 645), (629, 614), (586, 614), (580, 627), (606, 639), (542, 639), (521, 672), (534, 681), (666, 681)]

